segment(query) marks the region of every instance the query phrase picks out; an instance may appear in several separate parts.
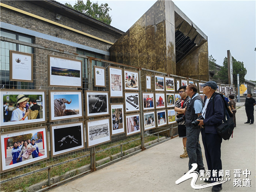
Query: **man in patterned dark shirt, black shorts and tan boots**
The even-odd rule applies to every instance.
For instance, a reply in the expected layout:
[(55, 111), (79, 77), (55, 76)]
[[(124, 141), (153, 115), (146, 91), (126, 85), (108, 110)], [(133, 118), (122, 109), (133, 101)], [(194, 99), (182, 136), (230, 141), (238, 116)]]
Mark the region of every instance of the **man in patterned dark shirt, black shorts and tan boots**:
[(177, 123), (178, 123), (178, 135), (179, 138), (182, 138), (184, 153), (180, 155), (180, 158), (188, 157), (186, 143), (187, 143), (187, 136), (186, 136), (186, 126), (184, 121), (184, 113), (187, 106), (187, 103), (190, 99), (188, 95), (185, 93), (186, 86), (181, 86), (178, 89), (178, 93), (180, 95), (180, 99), (175, 103), (174, 110), (177, 112)]

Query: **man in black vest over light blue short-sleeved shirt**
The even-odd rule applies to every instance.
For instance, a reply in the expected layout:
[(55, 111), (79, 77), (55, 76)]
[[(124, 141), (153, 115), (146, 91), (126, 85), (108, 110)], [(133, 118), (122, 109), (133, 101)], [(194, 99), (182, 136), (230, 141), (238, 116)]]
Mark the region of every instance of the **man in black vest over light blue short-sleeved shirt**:
[(187, 104), (187, 111), (185, 113), (185, 126), (187, 132), (187, 153), (189, 157), (188, 169), (192, 168), (193, 163), (197, 163), (197, 172), (204, 172), (204, 163), (202, 157), (202, 150), (199, 143), (200, 127), (194, 126), (193, 121), (202, 112), (203, 100), (197, 93), (197, 87), (193, 83), (189, 83), (186, 87), (186, 93), (191, 98)]

